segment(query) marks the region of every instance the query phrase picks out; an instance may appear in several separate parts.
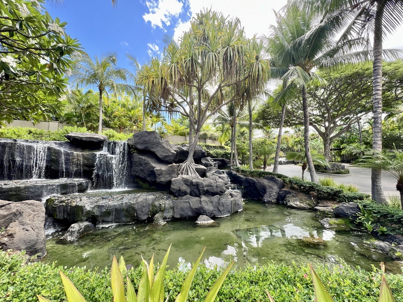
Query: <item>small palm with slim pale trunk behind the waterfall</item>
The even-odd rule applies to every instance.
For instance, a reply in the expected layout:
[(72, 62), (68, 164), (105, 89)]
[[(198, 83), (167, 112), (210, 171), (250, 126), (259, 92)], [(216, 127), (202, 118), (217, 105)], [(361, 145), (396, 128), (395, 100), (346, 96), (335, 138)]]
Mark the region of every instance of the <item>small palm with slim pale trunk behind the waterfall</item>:
[(99, 91), (99, 124), (98, 133), (102, 132), (102, 95), (108, 91), (123, 90), (124, 84), (118, 80), (126, 79), (126, 70), (116, 66), (116, 53), (108, 53), (106, 56), (94, 60), (84, 52), (80, 60), (75, 64), (72, 72), (73, 82), (81, 86), (96, 86)]

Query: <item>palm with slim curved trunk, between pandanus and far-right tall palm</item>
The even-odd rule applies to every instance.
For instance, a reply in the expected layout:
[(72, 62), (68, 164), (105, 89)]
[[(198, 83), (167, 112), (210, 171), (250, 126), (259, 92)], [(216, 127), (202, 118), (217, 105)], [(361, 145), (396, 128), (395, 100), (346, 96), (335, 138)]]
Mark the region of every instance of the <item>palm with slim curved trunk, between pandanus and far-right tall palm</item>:
[[(355, 47), (359, 40), (347, 40), (336, 44), (332, 39), (343, 23), (343, 14), (333, 14), (321, 18), (313, 10), (300, 10), (288, 5), (281, 14), (276, 13), (277, 26), (272, 26), (268, 46), (276, 66), (289, 66), (283, 76), (287, 81), (283, 94), (286, 99), (302, 94), (304, 114), (304, 148), (309, 173), (313, 182), (318, 182), (309, 145), (309, 111), (307, 86), (324, 85), (326, 82), (314, 68), (340, 65), (344, 61), (358, 61), (365, 52), (346, 53)], [(287, 97), (288, 96), (288, 97)]]

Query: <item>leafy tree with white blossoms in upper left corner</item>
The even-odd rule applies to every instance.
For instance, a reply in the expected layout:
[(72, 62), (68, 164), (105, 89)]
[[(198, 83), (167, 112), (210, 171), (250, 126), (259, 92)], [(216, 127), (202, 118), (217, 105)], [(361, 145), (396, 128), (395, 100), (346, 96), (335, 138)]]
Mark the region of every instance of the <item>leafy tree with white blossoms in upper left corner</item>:
[(51, 119), (62, 108), (59, 98), (68, 84), (64, 72), (80, 44), (43, 3), (0, 3), (0, 123)]

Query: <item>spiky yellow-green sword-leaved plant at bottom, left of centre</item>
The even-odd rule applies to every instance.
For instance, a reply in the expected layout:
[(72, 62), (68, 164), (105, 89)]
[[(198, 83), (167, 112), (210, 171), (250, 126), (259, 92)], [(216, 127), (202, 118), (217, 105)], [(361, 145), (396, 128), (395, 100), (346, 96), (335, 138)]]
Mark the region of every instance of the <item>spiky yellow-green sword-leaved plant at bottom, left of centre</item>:
[[(162, 261), (162, 264), (160, 265), (160, 268), (158, 269), (157, 274), (155, 276), (154, 276), (154, 255), (150, 260), (150, 264), (148, 264), (143, 259), (142, 276), (140, 279), (139, 290), (137, 295), (135, 288), (133, 287), (128, 276), (126, 276), (126, 294), (124, 293), (124, 281), (121, 272), (122, 267), (124, 266), (124, 259), (123, 258), (120, 259), (120, 265), (119, 265), (116, 260), (116, 257), (113, 256), (111, 267), (111, 285), (113, 293), (113, 302), (138, 302), (138, 301), (163, 302), (165, 272), (170, 250), (171, 246), (169, 246), (168, 251), (165, 254), (164, 260)], [(194, 274), (196, 273), (198, 264), (205, 250), (206, 248), (203, 249), (203, 252), (201, 252), (200, 256), (194, 263), (193, 268), (187, 274), (185, 280), (182, 283), (181, 290), (175, 299), (175, 302), (186, 301), (190, 290), (190, 285), (194, 278)], [(227, 269), (218, 277), (218, 279), (210, 289), (209, 293), (207, 294), (205, 302), (214, 301), (218, 291), (220, 290), (221, 285), (224, 282), (224, 279), (228, 275), (234, 262), (232, 262), (227, 267)], [(74, 286), (73, 282), (70, 281), (70, 279), (66, 277), (61, 271), (60, 271), (60, 277), (63, 282), (67, 300), (69, 302), (86, 302), (83, 295)], [(39, 302), (51, 302), (49, 299), (46, 299), (40, 295), (38, 295), (38, 299)]]

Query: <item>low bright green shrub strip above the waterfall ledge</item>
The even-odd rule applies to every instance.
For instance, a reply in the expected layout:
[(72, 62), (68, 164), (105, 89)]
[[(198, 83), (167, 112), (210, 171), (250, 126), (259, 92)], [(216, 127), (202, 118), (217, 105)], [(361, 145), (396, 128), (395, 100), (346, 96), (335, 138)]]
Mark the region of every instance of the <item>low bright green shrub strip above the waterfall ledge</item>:
[[(71, 132), (93, 133), (85, 127), (64, 126), (62, 129), (43, 130), (28, 127), (1, 128), (0, 138), (12, 139), (28, 139), (28, 140), (51, 140), (51, 141), (66, 141), (64, 135)], [(132, 133), (118, 133), (115, 130), (109, 129), (102, 132), (109, 140), (127, 140)]]

